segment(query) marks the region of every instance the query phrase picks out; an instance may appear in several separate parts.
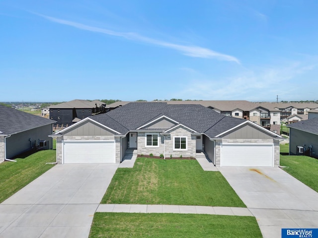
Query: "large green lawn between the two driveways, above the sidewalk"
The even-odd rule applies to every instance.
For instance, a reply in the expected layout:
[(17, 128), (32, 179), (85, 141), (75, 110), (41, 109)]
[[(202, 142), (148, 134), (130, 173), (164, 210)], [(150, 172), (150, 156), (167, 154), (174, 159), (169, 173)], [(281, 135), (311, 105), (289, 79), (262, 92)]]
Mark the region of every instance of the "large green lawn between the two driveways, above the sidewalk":
[(117, 169), (101, 203), (246, 207), (220, 172), (196, 160), (151, 158)]

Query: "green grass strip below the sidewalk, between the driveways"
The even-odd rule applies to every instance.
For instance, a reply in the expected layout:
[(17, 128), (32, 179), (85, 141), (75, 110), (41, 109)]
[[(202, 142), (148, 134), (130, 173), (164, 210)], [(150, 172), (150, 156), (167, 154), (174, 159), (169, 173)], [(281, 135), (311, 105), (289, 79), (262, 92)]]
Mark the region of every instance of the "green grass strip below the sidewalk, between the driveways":
[(89, 238), (261, 238), (254, 217), (95, 213)]

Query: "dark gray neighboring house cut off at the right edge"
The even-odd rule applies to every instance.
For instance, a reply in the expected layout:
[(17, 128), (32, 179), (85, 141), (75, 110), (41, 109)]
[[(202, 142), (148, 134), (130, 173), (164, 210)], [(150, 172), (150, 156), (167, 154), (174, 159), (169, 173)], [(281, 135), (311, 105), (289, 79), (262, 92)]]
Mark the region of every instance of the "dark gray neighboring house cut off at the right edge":
[(289, 154), (318, 158), (318, 117), (287, 126), (290, 128)]

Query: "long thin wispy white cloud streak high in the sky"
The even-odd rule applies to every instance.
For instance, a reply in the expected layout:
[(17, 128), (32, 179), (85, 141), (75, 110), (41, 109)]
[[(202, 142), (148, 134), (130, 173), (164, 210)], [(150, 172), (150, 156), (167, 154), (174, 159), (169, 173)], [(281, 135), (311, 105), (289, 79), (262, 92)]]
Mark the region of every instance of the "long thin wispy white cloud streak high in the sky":
[(144, 42), (144, 43), (152, 44), (155, 46), (173, 49), (173, 50), (176, 50), (178, 52), (181, 52), (183, 55), (190, 56), (190, 57), (226, 60), (226, 61), (234, 61), (234, 62), (239, 63), (239, 60), (234, 56), (222, 54), (222, 53), (212, 51), (210, 49), (199, 47), (199, 46), (179, 45), (179, 44), (174, 44), (174, 43), (170, 43), (170, 42), (165, 42), (165, 41), (160, 41), (157, 39), (145, 37), (145, 36), (139, 35), (138, 33), (134, 33), (134, 32), (117, 32), (117, 31), (112, 31), (112, 30), (100, 28), (100, 27), (88, 26), (88, 25), (81, 24), (78, 22), (59, 19), (59, 18), (55, 18), (55, 17), (51, 17), (51, 16), (46, 16), (46, 15), (41, 15), (41, 14), (37, 14), (37, 15), (44, 17), (52, 22), (72, 26), (72, 27), (75, 27), (75, 28), (78, 28), (81, 30), (98, 32), (98, 33), (103, 33), (103, 34), (111, 35), (111, 36), (123, 37), (123, 38), (129, 39), (129, 40)]

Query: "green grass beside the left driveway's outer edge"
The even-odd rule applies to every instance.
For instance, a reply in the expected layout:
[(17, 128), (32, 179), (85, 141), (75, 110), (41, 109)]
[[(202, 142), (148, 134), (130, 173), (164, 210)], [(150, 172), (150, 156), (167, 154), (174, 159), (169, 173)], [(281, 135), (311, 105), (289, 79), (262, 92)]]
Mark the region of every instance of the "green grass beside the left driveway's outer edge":
[(46, 163), (56, 161), (55, 150), (43, 150), (17, 162), (0, 164), (0, 203), (16, 193), (22, 187), (51, 169), (54, 165)]

